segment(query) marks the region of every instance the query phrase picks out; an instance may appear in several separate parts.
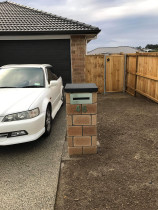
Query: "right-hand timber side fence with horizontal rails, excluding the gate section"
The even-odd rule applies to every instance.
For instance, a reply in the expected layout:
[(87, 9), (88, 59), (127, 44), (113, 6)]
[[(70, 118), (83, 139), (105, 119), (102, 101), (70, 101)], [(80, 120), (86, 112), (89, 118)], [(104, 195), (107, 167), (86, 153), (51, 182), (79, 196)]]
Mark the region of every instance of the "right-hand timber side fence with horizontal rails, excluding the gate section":
[(126, 91), (158, 102), (158, 53), (127, 55)]

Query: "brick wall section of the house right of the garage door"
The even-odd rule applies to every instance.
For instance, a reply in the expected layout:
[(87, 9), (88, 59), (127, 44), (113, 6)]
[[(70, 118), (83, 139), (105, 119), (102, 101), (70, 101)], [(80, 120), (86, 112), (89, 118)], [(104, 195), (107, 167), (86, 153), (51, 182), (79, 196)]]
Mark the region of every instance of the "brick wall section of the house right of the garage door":
[(71, 65), (72, 83), (85, 82), (85, 55), (86, 37), (82, 35), (71, 36)]

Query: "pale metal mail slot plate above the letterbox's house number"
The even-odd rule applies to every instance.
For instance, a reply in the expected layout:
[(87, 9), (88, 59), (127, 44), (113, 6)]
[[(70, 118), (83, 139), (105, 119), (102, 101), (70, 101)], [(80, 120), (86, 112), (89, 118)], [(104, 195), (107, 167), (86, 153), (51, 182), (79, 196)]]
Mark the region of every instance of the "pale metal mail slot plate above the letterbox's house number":
[(92, 93), (71, 93), (70, 104), (92, 104)]

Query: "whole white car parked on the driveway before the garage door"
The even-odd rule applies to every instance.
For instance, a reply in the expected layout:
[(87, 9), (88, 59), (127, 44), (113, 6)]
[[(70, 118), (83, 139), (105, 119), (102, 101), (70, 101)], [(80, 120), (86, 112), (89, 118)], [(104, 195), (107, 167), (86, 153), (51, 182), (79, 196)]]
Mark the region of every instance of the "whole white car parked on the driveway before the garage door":
[(62, 78), (51, 65), (0, 68), (0, 145), (19, 144), (51, 132), (64, 99)]

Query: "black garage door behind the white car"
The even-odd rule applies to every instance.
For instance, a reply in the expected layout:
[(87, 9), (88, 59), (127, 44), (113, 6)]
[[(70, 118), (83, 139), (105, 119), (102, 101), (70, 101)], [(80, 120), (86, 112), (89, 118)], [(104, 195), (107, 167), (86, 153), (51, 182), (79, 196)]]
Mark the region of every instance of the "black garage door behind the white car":
[(0, 41), (0, 66), (6, 64), (51, 64), (64, 84), (70, 83), (70, 40)]

